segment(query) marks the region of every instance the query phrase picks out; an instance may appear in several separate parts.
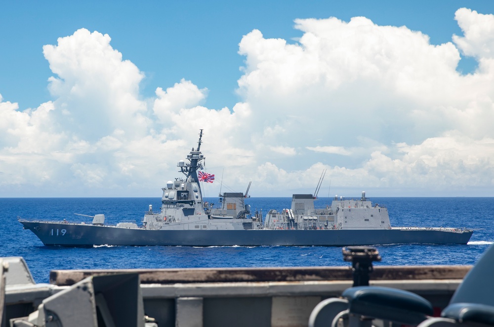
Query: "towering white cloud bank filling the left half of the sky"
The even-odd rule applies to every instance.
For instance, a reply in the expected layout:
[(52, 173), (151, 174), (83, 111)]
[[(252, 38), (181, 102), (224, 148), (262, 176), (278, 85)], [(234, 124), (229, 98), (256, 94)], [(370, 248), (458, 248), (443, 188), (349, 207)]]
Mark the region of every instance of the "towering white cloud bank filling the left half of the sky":
[(200, 106), (207, 89), (185, 79), (166, 90), (158, 87), (152, 101), (142, 100), (144, 74), (110, 41), (81, 29), (43, 47), (55, 74), (48, 79), (53, 101), (21, 111), (0, 98), (4, 192), (156, 195), (165, 179), (178, 175), (176, 162), (206, 126), (208, 144), (214, 145), (209, 165), (223, 166), (226, 155), (229, 166), (251, 161), (252, 151), (237, 146), (244, 140), (233, 138), (250, 115), (247, 103), (207, 109)]

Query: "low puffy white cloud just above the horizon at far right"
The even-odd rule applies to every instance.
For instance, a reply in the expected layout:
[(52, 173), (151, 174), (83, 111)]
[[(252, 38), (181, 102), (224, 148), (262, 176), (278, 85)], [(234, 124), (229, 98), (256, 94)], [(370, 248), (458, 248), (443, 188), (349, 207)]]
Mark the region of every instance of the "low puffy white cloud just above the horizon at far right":
[(404, 153), (391, 158), (372, 153), (365, 169), (381, 186), (405, 184), (413, 188), (463, 190), (492, 186), (494, 139), (473, 140), (458, 134), (425, 140), (419, 145), (398, 145)]

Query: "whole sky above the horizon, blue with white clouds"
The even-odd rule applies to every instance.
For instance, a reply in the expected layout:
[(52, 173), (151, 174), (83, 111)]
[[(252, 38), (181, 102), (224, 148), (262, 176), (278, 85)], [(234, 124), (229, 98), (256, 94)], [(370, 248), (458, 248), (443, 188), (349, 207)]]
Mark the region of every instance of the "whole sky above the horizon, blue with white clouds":
[[(460, 8), (470, 10), (460, 19), (477, 35), (455, 43), (453, 35), (464, 36), (455, 19)], [(478, 27), (484, 34), (476, 29), (476, 13), (486, 19)], [(0, 20), (0, 196), (159, 196), (166, 180), (178, 177), (174, 163), (194, 145), (199, 127), (205, 129), (211, 173), (225, 171), (224, 182), (234, 190), (252, 180), (254, 196), (312, 191), (323, 169), (329, 170), (331, 189), (348, 196), (358, 196), (361, 188), (371, 190), (370, 196), (494, 196), (489, 151), (494, 135), (487, 126), (494, 122), (493, 73), (489, 51), (482, 49), (482, 44), (492, 45), (493, 13), (491, 1), (452, 0), (8, 1)], [(368, 34), (352, 39), (355, 32), (348, 23), (359, 16), (367, 19), (357, 25), (368, 25)], [(342, 23), (331, 23), (330, 17)], [(88, 33), (76, 34), (81, 29)], [(335, 39), (345, 33), (346, 40)], [(298, 61), (311, 55), (299, 38), (312, 42), (312, 35), (317, 40), (310, 44), (326, 42), (321, 49), (330, 49), (318, 58), (329, 56), (314, 63), (321, 67), (298, 69), (311, 63)], [(74, 51), (60, 46), (58, 39), (64, 37), (70, 37)], [(120, 53), (134, 73), (98, 76), (96, 69), (70, 68), (70, 63), (84, 62), (77, 48), (83, 40)], [(366, 46), (360, 48), (363, 41)], [(45, 45), (55, 47), (50, 59)], [(414, 58), (372, 62), (407, 46), (410, 51), (404, 53), (416, 51)], [(339, 51), (343, 56), (331, 57)], [(343, 60), (345, 51), (348, 60)], [(284, 58), (285, 66), (275, 67)], [(481, 59), (487, 66), (478, 70)], [(332, 64), (326, 73), (304, 79), (305, 72)], [(124, 72), (123, 66), (106, 73)], [(366, 75), (367, 67), (375, 71)], [(280, 79), (271, 80), (273, 72), (281, 72)], [(342, 79), (335, 77), (338, 72), (344, 73)], [(426, 72), (432, 88), (444, 87), (421, 93), (427, 93), (421, 89)], [(57, 81), (48, 81), (51, 76)], [(286, 78), (305, 84), (279, 88)], [(125, 79), (128, 85), (107, 93), (106, 84), (99, 87), (101, 93), (91, 87), (72, 93), (98, 79)], [(324, 85), (316, 83), (319, 79)], [(399, 87), (388, 85), (390, 79)], [(306, 88), (307, 83), (315, 84)], [(114, 97), (105, 98), (108, 93)], [(120, 100), (128, 108), (120, 111), (115, 105)], [(174, 118), (167, 119), (171, 113)], [(197, 121), (187, 125), (184, 119), (190, 115)], [(129, 121), (139, 127), (131, 131)], [(112, 126), (105, 130), (108, 122)], [(160, 153), (160, 165), (151, 168), (156, 155), (146, 160), (137, 149)], [(433, 154), (434, 149), (441, 153)], [(219, 185), (207, 187), (215, 195)]]

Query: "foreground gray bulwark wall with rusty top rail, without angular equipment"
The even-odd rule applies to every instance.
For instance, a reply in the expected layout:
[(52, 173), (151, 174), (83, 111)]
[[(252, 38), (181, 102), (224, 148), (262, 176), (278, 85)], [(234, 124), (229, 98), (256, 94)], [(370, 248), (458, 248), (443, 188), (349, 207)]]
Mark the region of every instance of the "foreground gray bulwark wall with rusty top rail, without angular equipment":
[[(471, 266), (377, 266), (371, 285), (412, 291), (435, 311), (448, 304)], [(14, 270), (13, 270), (14, 271)], [(144, 312), (158, 326), (307, 326), (312, 309), (352, 286), (345, 267), (52, 270), (49, 284), (16, 282), (5, 290), (8, 318), (88, 277), (138, 275)], [(136, 299), (129, 298), (127, 301)], [(80, 310), (66, 308), (66, 310)]]

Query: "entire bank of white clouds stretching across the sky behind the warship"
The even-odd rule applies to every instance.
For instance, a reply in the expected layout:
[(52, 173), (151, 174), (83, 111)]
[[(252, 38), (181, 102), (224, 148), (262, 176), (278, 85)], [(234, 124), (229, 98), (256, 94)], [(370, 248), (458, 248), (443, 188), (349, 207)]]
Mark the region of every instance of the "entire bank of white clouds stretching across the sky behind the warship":
[[(236, 190), (252, 181), (254, 196), (313, 192), (325, 169), (332, 189), (356, 194), (492, 189), (494, 15), (454, 19), (463, 36), (444, 44), (366, 17), (296, 19), (296, 42), (253, 30), (239, 43), (242, 101), (222, 109), (186, 79), (144, 99), (144, 73), (110, 36), (78, 30), (43, 47), (52, 101), (0, 97), (0, 184), (16, 196), (157, 196), (204, 129), (206, 169)], [(461, 56), (479, 69), (458, 73)]]

